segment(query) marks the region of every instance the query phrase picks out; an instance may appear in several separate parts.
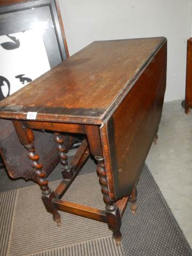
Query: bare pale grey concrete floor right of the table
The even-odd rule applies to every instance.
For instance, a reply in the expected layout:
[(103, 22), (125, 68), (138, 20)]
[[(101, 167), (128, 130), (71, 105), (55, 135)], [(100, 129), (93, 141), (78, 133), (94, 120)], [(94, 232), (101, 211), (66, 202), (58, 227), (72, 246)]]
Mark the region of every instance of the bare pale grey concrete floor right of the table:
[(164, 103), (146, 163), (192, 248), (192, 111), (186, 115), (181, 100)]

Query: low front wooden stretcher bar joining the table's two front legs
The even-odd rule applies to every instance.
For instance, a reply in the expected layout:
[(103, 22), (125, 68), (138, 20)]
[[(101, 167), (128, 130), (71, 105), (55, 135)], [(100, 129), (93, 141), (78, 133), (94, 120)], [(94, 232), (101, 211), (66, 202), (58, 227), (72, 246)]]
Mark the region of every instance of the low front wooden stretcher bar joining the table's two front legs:
[(60, 199), (53, 199), (52, 203), (55, 207), (57, 207), (58, 210), (81, 215), (83, 217), (99, 220), (102, 222), (107, 222), (105, 211), (81, 204), (62, 201)]

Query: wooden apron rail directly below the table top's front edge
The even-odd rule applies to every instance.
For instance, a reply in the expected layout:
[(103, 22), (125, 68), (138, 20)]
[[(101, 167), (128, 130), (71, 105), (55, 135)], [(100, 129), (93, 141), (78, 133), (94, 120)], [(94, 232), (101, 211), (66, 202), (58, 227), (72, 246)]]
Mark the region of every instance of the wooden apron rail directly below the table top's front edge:
[(70, 132), (70, 133), (81, 133), (86, 134), (85, 125), (82, 124), (66, 124), (66, 123), (50, 123), (50, 122), (37, 122), (37, 121), (23, 121), (26, 127), (31, 129), (42, 129), (46, 131), (58, 131), (58, 132)]

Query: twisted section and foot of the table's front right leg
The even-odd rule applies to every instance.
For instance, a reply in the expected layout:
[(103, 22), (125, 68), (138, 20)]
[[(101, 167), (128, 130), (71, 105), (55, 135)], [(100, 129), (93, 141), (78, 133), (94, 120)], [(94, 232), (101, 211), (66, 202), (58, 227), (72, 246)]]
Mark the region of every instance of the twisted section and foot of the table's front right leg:
[(97, 172), (99, 173), (99, 181), (101, 184), (103, 201), (106, 204), (106, 216), (108, 221), (108, 227), (110, 230), (113, 231), (113, 237), (115, 238), (116, 244), (119, 245), (122, 238), (122, 234), (120, 231), (121, 216), (118, 207), (116, 207), (115, 202), (111, 202), (109, 198), (104, 159), (103, 157), (100, 156), (95, 156), (95, 159), (98, 162)]

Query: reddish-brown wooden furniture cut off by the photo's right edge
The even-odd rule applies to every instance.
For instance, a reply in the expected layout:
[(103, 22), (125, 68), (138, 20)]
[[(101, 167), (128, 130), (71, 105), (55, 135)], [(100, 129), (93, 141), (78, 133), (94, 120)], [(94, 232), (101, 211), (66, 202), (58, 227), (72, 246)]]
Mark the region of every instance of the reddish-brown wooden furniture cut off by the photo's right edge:
[(192, 38), (187, 40), (187, 70), (186, 70), (186, 97), (185, 113), (192, 108)]

